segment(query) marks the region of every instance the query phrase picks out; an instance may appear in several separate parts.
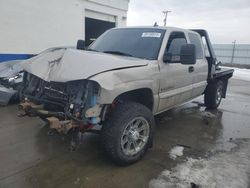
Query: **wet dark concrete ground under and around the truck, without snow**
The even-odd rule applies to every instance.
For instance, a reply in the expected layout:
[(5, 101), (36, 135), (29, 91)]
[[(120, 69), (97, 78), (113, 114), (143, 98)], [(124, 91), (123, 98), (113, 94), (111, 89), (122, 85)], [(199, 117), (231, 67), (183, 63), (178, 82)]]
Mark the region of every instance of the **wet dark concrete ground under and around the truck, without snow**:
[[(141, 161), (128, 167), (116, 166), (102, 155), (98, 135), (84, 135), (82, 144), (70, 152), (69, 136), (47, 136), (48, 128), (39, 119), (17, 117), (16, 105), (2, 107), (0, 187), (168, 187), (159, 183), (167, 181), (159, 180), (162, 171), (171, 171), (187, 158), (207, 159), (218, 152), (230, 155), (232, 148), (237, 152), (240, 147), (238, 140), (249, 141), (249, 86), (247, 81), (230, 80), (227, 98), (211, 113), (187, 103), (156, 117), (154, 147)], [(183, 147), (184, 153), (174, 160), (169, 152), (175, 146)], [(237, 157), (239, 163), (249, 162), (246, 157), (250, 151), (247, 152), (242, 159)], [(249, 170), (246, 168), (244, 181), (249, 182)], [(154, 183), (155, 180), (159, 181)]]

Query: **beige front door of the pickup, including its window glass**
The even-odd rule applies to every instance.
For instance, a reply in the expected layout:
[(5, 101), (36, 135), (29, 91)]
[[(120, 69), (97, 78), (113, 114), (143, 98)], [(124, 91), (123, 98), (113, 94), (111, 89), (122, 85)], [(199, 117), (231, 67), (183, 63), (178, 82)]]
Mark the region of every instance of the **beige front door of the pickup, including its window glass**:
[(180, 50), (187, 43), (184, 32), (176, 31), (169, 35), (165, 53), (170, 54), (173, 62), (160, 63), (160, 91), (158, 112), (189, 100), (192, 96), (192, 66), (180, 62)]

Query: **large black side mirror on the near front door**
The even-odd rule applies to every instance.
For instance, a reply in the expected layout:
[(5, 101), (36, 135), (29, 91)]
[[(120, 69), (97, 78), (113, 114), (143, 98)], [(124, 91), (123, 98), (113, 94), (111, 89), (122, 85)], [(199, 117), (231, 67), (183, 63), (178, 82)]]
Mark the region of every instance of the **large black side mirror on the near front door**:
[(194, 44), (184, 44), (181, 46), (181, 64), (193, 65), (196, 63), (196, 49)]

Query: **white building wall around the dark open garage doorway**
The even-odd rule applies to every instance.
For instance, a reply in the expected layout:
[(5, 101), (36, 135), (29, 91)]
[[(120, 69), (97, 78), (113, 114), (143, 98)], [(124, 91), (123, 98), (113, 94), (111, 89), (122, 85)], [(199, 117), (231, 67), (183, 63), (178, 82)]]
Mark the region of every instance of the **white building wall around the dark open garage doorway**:
[(121, 27), (127, 9), (128, 0), (0, 0), (0, 54), (75, 46), (85, 36), (86, 10), (114, 16)]

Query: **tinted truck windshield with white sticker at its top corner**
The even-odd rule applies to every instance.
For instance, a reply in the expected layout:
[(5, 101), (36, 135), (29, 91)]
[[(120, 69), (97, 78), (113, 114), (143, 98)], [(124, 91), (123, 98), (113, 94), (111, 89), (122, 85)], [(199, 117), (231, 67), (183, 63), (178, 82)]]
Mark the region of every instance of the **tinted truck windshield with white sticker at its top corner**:
[(165, 30), (157, 28), (112, 29), (101, 35), (89, 50), (155, 60)]

